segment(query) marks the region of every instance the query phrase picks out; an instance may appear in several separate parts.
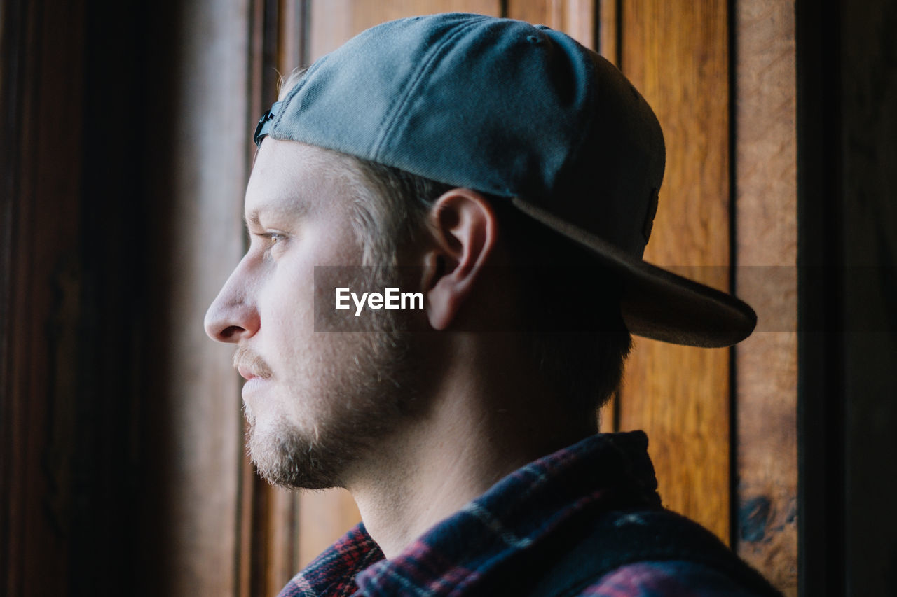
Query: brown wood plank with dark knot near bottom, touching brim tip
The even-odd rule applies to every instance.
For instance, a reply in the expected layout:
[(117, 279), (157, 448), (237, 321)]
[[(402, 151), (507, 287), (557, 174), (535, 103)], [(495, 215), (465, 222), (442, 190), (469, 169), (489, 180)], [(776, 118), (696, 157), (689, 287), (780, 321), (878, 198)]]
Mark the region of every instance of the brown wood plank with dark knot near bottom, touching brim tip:
[(736, 548), (797, 595), (797, 74), (794, 3), (736, 3)]

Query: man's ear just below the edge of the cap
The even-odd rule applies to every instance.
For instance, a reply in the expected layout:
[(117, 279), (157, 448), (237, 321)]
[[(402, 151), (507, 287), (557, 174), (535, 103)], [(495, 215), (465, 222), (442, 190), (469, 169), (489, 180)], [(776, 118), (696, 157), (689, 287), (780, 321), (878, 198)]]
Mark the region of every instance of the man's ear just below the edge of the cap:
[(435, 242), (423, 255), (427, 318), (433, 329), (444, 330), (456, 319), (495, 250), (498, 222), (483, 195), (456, 188), (434, 203), (430, 228)]

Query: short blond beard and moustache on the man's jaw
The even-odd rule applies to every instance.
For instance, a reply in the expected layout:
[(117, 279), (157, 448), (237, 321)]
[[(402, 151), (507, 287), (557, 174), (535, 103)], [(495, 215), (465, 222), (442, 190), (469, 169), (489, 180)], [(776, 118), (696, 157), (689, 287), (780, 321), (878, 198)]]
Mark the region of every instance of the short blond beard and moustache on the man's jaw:
[[(416, 395), (412, 333), (400, 329), (394, 312), (380, 311), (369, 324), (365, 332), (331, 336), (343, 344), (338, 358), (316, 355), (317, 368), (303, 376), (314, 379), (314, 395), (296, 388), (290, 396), (309, 407), (302, 421), (266, 413), (259, 424), (244, 402), (247, 452), (262, 478), (287, 489), (344, 487), (345, 472), (409, 416)], [(243, 348), (234, 361), (270, 372)]]

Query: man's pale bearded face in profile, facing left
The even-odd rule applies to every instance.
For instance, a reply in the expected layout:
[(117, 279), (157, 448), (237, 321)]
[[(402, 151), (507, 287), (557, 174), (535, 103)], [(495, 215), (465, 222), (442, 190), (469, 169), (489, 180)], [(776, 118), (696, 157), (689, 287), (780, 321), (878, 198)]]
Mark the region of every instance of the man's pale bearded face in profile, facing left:
[(398, 416), (401, 338), (314, 329), (315, 265), (361, 263), (358, 189), (341, 169), (308, 145), (262, 143), (246, 193), (248, 251), (205, 316), (206, 333), (236, 345), (253, 461), (291, 487), (340, 485)]

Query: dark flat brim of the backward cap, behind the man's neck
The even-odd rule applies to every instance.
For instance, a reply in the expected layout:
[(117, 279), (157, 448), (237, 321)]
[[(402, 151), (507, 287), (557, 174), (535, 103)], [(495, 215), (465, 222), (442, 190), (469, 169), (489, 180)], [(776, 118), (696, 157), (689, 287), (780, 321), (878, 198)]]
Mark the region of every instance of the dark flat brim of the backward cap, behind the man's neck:
[(623, 281), (623, 321), (631, 333), (674, 344), (722, 348), (741, 342), (753, 332), (757, 315), (743, 300), (628, 255), (519, 197), (512, 197), (511, 203), (586, 247), (604, 264), (618, 268)]

